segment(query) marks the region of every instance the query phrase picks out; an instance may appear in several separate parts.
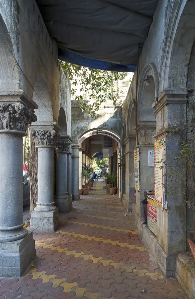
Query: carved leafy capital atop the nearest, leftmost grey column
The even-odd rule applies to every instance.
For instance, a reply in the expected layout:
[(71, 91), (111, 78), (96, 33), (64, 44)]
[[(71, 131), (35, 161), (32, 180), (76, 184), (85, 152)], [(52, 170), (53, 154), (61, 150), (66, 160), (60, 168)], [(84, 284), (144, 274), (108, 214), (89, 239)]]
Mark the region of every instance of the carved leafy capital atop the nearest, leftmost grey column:
[(26, 132), (34, 121), (37, 121), (34, 110), (21, 102), (0, 103), (0, 130)]

